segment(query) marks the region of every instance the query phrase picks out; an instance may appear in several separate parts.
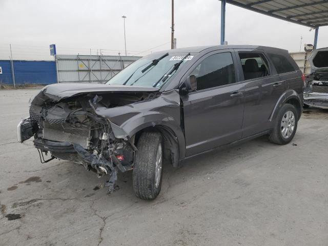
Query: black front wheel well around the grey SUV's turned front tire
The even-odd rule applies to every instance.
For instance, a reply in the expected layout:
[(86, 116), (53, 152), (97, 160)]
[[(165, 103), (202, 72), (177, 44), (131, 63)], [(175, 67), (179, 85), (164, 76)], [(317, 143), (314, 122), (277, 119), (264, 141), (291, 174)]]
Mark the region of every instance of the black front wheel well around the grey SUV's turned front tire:
[(159, 132), (163, 138), (163, 160), (171, 163), (173, 167), (179, 166), (178, 138), (171, 129), (160, 125), (142, 129), (135, 134), (135, 143), (138, 142), (142, 132)]

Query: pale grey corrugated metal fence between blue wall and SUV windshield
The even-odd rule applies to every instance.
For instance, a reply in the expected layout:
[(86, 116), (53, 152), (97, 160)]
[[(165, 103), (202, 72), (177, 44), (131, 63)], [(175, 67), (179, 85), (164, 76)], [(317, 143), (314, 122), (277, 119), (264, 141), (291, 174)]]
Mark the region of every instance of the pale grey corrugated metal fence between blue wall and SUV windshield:
[(58, 82), (105, 83), (138, 56), (57, 55)]

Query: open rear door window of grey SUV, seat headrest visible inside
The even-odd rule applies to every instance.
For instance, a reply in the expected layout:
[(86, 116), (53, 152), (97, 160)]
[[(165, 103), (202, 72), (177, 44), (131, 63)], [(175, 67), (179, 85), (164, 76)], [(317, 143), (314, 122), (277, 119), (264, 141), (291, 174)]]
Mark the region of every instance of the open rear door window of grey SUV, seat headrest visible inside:
[(269, 67), (264, 55), (254, 52), (239, 52), (245, 80), (269, 75)]

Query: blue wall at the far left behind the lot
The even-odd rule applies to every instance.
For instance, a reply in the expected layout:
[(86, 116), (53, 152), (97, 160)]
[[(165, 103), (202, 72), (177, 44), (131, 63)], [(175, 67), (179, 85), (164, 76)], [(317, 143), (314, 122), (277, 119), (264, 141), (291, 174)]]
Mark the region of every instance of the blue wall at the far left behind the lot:
[[(10, 60), (0, 60), (0, 83), (13, 85)], [(57, 83), (54, 61), (13, 60), (15, 84), (49, 85)]]

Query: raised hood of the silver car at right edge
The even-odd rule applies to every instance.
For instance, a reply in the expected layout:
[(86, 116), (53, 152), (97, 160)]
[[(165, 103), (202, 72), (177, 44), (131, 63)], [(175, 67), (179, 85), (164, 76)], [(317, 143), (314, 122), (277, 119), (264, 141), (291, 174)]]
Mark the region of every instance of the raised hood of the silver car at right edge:
[(308, 60), (311, 65), (311, 73), (328, 73), (328, 48), (313, 50)]

